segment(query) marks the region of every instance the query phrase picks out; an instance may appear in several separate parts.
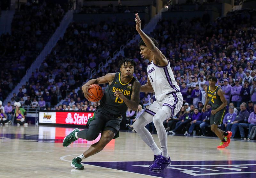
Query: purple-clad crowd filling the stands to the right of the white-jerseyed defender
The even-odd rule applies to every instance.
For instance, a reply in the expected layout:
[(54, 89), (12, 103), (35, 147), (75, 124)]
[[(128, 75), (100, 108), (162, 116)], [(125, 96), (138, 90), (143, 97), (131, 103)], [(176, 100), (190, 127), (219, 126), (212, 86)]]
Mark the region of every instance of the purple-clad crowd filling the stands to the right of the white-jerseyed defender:
[[(195, 135), (194, 129), (197, 127), (201, 128), (200, 135), (206, 134), (205, 128), (209, 124), (205, 121), (209, 117), (201, 112), (206, 104), (204, 90), (209, 84), (208, 78), (216, 76), (217, 85), (223, 90), (228, 104), (233, 109), (241, 110), (239, 114), (242, 114), (239, 116), (237, 113), (236, 119), (227, 120), (220, 127), (233, 131), (232, 137), (249, 137), (243, 134), (242, 128), (251, 131), (256, 126), (255, 120), (248, 120), (249, 114), (254, 113), (253, 104), (256, 104), (255, 21), (255, 16), (244, 12), (229, 14), (226, 18), (216, 19), (212, 24), (207, 21), (203, 23), (200, 19), (163, 19), (158, 22), (151, 36), (156, 38), (159, 49), (170, 60), (187, 110), (187, 113), (181, 111), (177, 118), (169, 119), (171, 122), (166, 125), (168, 133)], [(136, 44), (127, 46), (124, 52), (126, 57), (138, 62), (139, 69), (135, 71), (135, 76), (143, 84), (147, 79), (143, 71), (147, 70), (148, 60), (139, 60), (140, 51)], [(151, 98), (154, 98), (153, 94)], [(246, 115), (245, 111), (248, 112)], [(241, 135), (237, 133), (238, 128)]]

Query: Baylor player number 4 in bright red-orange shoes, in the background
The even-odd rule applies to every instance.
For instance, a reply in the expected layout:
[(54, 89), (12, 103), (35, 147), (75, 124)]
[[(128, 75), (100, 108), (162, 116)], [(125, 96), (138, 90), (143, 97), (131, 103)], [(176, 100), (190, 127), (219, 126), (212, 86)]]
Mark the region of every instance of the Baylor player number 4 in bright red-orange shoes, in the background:
[[(211, 130), (221, 140), (221, 143), (219, 146), (217, 146), (217, 148), (226, 148), (230, 143), (230, 137), (232, 135), (232, 132), (225, 132), (218, 128), (218, 125), (222, 124), (223, 118), (226, 114), (227, 100), (224, 97), (222, 89), (218, 86), (215, 86), (216, 83), (216, 77), (209, 78), (209, 86), (205, 90), (207, 97), (205, 103), (210, 102), (210, 104), (212, 105), (212, 111), (210, 116)], [(204, 105), (202, 112), (206, 111), (205, 108), (206, 104)]]

